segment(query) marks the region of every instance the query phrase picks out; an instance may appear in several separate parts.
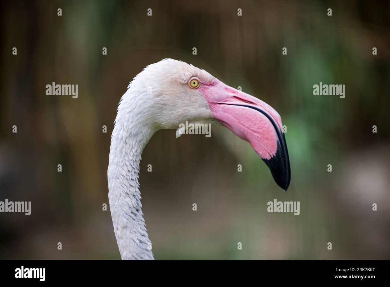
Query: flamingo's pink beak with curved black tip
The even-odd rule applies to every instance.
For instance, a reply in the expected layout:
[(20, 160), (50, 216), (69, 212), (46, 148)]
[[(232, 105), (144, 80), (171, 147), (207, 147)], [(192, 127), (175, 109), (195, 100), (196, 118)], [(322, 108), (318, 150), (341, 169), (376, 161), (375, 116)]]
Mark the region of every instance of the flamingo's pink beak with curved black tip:
[(276, 183), (287, 190), (291, 169), (280, 115), (267, 103), (219, 80), (200, 90), (214, 117), (249, 142), (268, 165)]

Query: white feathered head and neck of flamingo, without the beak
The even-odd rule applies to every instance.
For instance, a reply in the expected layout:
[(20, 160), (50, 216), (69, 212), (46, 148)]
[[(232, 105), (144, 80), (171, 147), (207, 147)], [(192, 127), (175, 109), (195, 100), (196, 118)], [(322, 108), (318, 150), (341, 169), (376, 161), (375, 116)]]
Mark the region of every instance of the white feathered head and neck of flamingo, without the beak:
[(112, 222), (122, 259), (153, 259), (138, 184), (141, 154), (149, 139), (158, 129), (177, 129), (186, 120), (218, 124), (200, 91), (188, 87), (192, 76), (206, 83), (214, 79), (197, 67), (165, 59), (139, 73), (121, 98), (107, 177)]

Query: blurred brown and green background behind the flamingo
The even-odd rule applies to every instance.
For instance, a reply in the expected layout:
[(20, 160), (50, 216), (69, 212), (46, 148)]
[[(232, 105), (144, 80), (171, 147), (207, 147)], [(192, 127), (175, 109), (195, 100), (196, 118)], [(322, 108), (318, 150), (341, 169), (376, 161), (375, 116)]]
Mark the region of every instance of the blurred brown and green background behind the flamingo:
[[(223, 127), (211, 138), (158, 131), (140, 172), (156, 259), (390, 259), (389, 2), (0, 5), (0, 200), (32, 202), (30, 216), (0, 214), (0, 259), (120, 259), (102, 210), (110, 135), (129, 81), (163, 58), (273, 106), (287, 126), (292, 181), (282, 191)], [(53, 81), (78, 84), (78, 99), (46, 96)], [(320, 81), (345, 84), (345, 99), (313, 96)], [(274, 198), (300, 201), (300, 215), (268, 213)]]

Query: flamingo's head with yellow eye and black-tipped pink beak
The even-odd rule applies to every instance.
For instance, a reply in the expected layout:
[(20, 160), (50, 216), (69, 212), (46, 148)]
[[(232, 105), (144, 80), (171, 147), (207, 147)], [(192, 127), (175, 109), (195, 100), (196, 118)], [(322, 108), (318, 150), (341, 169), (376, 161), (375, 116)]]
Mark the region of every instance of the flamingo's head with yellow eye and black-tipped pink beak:
[[(186, 121), (223, 125), (247, 141), (287, 190), (291, 170), (280, 115), (260, 99), (225, 85), (203, 69), (165, 59), (147, 66), (129, 88), (146, 91), (156, 129)], [(153, 109), (154, 108), (154, 109)]]

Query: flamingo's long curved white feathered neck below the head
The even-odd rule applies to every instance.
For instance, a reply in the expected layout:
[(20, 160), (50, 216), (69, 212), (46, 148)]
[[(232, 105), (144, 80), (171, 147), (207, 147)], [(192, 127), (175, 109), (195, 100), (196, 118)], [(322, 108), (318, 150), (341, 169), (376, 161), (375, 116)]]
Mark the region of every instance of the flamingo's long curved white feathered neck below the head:
[[(129, 122), (129, 119), (136, 120)], [(145, 126), (137, 122), (136, 114), (129, 115), (119, 109), (111, 137), (108, 199), (122, 259), (154, 259), (138, 184), (142, 150), (154, 133)]]

